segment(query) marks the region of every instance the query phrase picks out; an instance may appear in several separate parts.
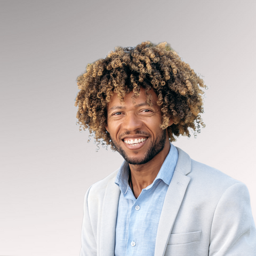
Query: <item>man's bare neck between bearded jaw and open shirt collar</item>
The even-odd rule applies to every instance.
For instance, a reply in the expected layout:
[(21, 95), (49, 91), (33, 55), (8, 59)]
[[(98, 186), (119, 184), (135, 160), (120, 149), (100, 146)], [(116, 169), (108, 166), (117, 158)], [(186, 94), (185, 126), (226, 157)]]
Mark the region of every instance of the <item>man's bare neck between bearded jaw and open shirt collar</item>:
[[(129, 164), (131, 170), (130, 187), (133, 187), (134, 196), (137, 198), (143, 188), (148, 187), (161, 169), (166, 156), (169, 154), (170, 142), (166, 140), (164, 149), (146, 164)], [(131, 184), (132, 183), (132, 184)]]

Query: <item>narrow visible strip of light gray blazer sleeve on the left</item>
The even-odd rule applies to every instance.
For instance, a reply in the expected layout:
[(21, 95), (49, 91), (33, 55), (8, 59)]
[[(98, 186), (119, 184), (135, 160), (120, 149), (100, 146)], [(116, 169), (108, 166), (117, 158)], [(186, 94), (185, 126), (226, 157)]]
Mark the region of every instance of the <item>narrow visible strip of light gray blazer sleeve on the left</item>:
[(92, 230), (89, 207), (88, 207), (88, 197), (91, 187), (87, 190), (84, 197), (84, 217), (82, 224), (82, 247), (80, 251), (80, 256), (96, 256), (97, 255), (97, 243), (95, 235)]

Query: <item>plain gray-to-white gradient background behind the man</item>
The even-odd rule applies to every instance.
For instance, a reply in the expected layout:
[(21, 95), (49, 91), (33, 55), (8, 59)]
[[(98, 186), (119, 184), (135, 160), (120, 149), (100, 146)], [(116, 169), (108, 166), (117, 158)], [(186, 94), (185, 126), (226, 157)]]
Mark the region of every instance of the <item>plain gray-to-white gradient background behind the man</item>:
[(256, 219), (253, 1), (0, 1), (0, 255), (78, 255), (83, 197), (122, 163), (78, 131), (76, 77), (114, 46), (167, 41), (204, 76), (205, 129), (174, 142), (243, 181)]

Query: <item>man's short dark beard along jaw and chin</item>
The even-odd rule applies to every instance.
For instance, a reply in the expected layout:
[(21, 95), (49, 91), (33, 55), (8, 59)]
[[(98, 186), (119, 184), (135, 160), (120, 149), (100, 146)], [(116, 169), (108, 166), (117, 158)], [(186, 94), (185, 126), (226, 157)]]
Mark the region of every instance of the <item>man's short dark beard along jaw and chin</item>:
[[(162, 130), (162, 129), (161, 129)], [(163, 132), (159, 134), (157, 139), (151, 144), (149, 149), (146, 151), (146, 154), (144, 157), (136, 158), (136, 157), (129, 157), (125, 153), (125, 151), (117, 145), (116, 141), (112, 140), (116, 151), (125, 159), (125, 161), (129, 164), (146, 164), (149, 161), (151, 161), (158, 153), (160, 153), (164, 149), (164, 145), (166, 142), (166, 131), (162, 130)], [(149, 138), (148, 138), (149, 139)], [(148, 140), (147, 139), (147, 140)], [(136, 152), (134, 152), (137, 154)]]

